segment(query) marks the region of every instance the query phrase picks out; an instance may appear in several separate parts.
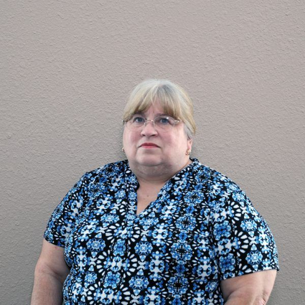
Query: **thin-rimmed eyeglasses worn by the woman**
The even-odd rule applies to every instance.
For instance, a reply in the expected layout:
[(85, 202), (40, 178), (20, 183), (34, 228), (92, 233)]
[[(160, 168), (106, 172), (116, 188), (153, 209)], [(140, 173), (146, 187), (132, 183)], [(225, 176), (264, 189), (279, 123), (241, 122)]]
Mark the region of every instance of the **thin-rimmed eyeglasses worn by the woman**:
[(135, 114), (130, 119), (123, 119), (122, 121), (130, 130), (140, 130), (147, 125), (147, 122), (151, 121), (157, 131), (167, 132), (172, 130), (180, 120), (174, 119), (168, 115), (160, 115), (154, 119), (146, 119), (141, 115)]

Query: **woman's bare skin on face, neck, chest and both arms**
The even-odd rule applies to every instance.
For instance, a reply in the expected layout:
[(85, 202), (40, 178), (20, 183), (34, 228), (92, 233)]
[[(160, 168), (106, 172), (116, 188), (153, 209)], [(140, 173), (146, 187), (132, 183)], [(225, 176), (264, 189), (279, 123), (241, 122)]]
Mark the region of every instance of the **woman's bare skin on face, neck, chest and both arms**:
[[(144, 116), (146, 119), (154, 119), (162, 112), (161, 106), (156, 104)], [(145, 142), (155, 143), (158, 147), (140, 147)], [(192, 143), (187, 138), (183, 123), (177, 124), (170, 133), (158, 133), (151, 122), (138, 132), (124, 129), (125, 153), (140, 185), (137, 191), (137, 214), (156, 199), (168, 179), (191, 163), (186, 151), (192, 148)], [(62, 304), (63, 283), (68, 274), (64, 248), (44, 240), (35, 268), (31, 304)], [(226, 304), (266, 304), (275, 278), (276, 270), (267, 270), (221, 281)]]

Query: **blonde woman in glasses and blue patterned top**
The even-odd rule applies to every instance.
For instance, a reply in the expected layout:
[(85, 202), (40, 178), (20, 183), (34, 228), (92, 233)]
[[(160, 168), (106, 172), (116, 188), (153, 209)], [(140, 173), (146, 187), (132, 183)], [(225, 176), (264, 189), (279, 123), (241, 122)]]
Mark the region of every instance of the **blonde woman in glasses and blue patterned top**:
[(190, 158), (186, 92), (144, 81), (123, 121), (127, 160), (85, 173), (50, 218), (32, 304), (266, 303), (272, 234), (234, 182)]

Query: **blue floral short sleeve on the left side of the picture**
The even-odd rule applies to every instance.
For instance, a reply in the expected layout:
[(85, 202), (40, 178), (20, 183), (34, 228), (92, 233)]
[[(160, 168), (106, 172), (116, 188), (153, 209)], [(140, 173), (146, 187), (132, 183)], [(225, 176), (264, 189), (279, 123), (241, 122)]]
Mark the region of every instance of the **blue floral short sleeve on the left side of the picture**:
[(53, 211), (44, 238), (56, 246), (64, 247), (66, 238), (88, 199), (87, 173), (71, 188)]

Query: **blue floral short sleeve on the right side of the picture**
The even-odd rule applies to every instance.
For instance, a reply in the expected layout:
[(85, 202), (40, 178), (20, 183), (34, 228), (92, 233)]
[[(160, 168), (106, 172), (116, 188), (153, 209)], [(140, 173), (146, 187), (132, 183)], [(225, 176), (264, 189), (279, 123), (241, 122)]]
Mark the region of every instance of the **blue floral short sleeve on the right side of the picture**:
[(220, 176), (210, 190), (211, 236), (220, 280), (277, 269), (275, 239), (263, 217), (233, 181)]

